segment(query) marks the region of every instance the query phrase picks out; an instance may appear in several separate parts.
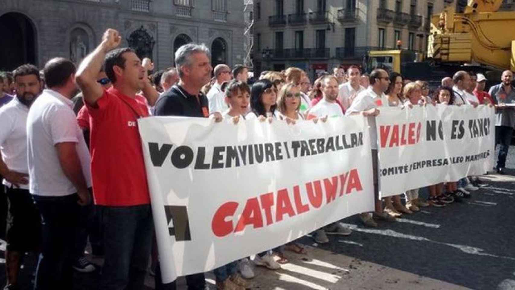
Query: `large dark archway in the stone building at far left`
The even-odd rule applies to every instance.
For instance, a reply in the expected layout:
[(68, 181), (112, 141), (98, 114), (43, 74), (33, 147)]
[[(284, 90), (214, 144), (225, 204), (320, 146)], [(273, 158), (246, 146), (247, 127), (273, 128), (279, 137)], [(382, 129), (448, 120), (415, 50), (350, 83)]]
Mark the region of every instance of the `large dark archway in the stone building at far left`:
[(9, 12), (0, 16), (0, 70), (12, 71), (32, 63), (37, 65), (36, 29), (22, 13)]

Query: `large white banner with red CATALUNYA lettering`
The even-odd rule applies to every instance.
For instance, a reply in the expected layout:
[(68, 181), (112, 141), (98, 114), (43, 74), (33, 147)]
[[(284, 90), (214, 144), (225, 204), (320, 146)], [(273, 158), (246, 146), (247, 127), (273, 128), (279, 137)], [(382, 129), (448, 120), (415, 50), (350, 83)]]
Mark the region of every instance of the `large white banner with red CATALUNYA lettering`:
[(164, 283), (373, 210), (362, 116), (295, 125), (138, 122)]

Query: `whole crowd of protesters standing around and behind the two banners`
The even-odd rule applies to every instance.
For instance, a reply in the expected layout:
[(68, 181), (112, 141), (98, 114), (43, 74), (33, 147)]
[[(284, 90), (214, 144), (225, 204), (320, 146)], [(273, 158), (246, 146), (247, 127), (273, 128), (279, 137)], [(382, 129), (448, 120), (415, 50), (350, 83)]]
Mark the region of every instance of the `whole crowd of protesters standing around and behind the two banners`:
[[(150, 115), (292, 125), (346, 115), (368, 117), (375, 209), (360, 214), (367, 227), (377, 227), (376, 220), (394, 222), (421, 207), (449, 206), (484, 185), (468, 177), (379, 199), (375, 116), (382, 107), (495, 106), (496, 142), (501, 145), (495, 169), (505, 170), (515, 127), (515, 111), (506, 106), (515, 103), (510, 71), (488, 93), (484, 75), (458, 71), (430, 94), (424, 80), (408, 81), (382, 69), (362, 75), (355, 65), (336, 67), (313, 83), (297, 67), (260, 76), (251, 76), (243, 65), (213, 69), (209, 49), (190, 43), (175, 53), (175, 67), (149, 76), (151, 61), (141, 61), (130, 48), (118, 48), (120, 43), (119, 33), (108, 29), (78, 68), (70, 60), (54, 58), (41, 71), (24, 64), (0, 74), (0, 174), (9, 204), (6, 290), (20, 289), (26, 252), (39, 254), (35, 289), (72, 289), (74, 270), (95, 270), (84, 257), (88, 240), (93, 254), (105, 261), (100, 289), (143, 289), (149, 271), (156, 276), (157, 289), (176, 288), (175, 282), (161, 282), (138, 132), (137, 120)], [(427, 191), (429, 198), (420, 191)], [(328, 233), (352, 231), (333, 223), (312, 236), (317, 243), (329, 243)], [(253, 263), (249, 258), (234, 261), (214, 270), (217, 288), (245, 289), (254, 277), (252, 264), (279, 269), (288, 263), (286, 250), (305, 253), (301, 244), (291, 242), (256, 254)], [(206, 287), (204, 274), (187, 276), (186, 281), (188, 289)]]

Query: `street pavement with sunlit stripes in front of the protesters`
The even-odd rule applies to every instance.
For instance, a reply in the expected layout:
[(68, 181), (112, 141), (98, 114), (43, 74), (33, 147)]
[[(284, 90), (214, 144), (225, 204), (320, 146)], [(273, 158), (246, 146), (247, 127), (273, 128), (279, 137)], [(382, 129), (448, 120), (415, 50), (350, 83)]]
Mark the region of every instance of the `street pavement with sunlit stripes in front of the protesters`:
[[(507, 167), (515, 168), (513, 147)], [(378, 228), (366, 228), (351, 216), (340, 222), (353, 233), (330, 235), (324, 245), (305, 236), (299, 242), (308, 253), (287, 252), (290, 263), (278, 271), (256, 268), (252, 289), (515, 289), (515, 169), (481, 178), (489, 185), (462, 203), (423, 208), (396, 223), (379, 222)], [(4, 251), (0, 241), (0, 285)], [(26, 258), (22, 289), (31, 288), (35, 262)], [(98, 270), (76, 272), (74, 290), (98, 289), (98, 279)], [(207, 281), (215, 289), (212, 273)], [(146, 284), (153, 289), (153, 277)], [(183, 279), (178, 284), (186, 289)]]

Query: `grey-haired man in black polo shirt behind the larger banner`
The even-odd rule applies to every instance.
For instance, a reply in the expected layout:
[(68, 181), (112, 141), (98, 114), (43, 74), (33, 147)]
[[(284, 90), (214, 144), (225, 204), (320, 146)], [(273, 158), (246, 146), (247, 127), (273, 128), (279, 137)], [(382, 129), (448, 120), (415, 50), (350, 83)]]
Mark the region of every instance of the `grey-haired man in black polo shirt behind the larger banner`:
[[(208, 98), (200, 92), (211, 79), (211, 54), (204, 44), (188, 43), (175, 53), (179, 82), (158, 99), (156, 116), (208, 117)], [(204, 289), (203, 273), (186, 276), (188, 289)], [(176, 282), (163, 285), (159, 263), (156, 268), (156, 289), (176, 289)]]

